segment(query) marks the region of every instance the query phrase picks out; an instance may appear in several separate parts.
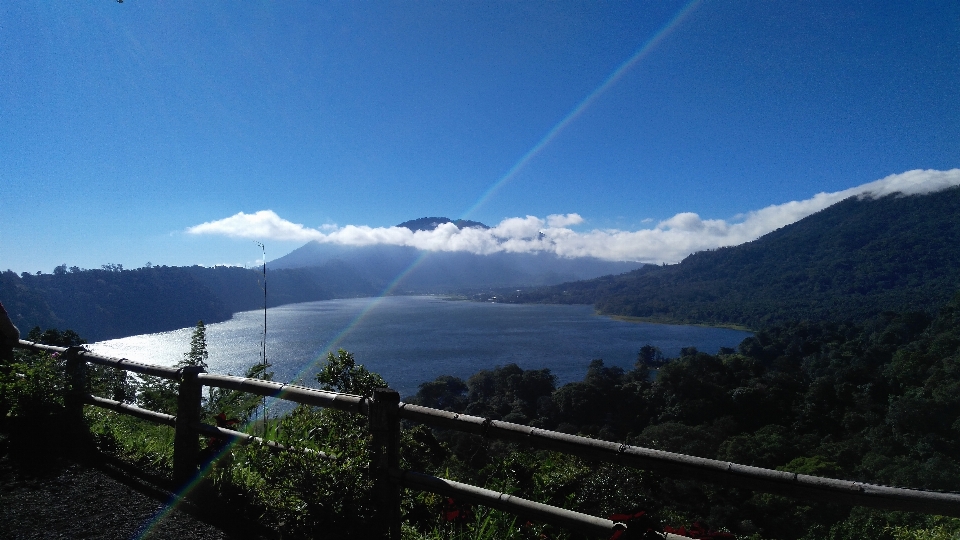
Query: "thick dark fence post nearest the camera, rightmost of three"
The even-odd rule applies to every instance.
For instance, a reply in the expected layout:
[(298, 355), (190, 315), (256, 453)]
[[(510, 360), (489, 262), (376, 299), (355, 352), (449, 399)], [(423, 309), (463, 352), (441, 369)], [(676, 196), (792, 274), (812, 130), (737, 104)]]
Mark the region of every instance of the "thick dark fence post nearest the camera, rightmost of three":
[(390, 388), (373, 391), (370, 433), (373, 444), (370, 473), (379, 505), (383, 537), (400, 540), (400, 485), (390, 479), (390, 469), (400, 466), (400, 394)]

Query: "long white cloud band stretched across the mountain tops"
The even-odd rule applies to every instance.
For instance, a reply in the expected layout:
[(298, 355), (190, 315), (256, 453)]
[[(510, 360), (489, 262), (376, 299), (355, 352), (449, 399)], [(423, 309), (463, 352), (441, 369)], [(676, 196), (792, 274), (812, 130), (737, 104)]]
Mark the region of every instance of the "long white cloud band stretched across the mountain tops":
[(287, 221), (272, 210), (243, 212), (187, 229), (188, 234), (280, 241), (317, 241), (353, 246), (388, 244), (428, 251), (465, 251), (475, 254), (554, 253), (561, 257), (597, 257), (611, 261), (675, 263), (697, 251), (749, 242), (794, 223), (848, 197), (883, 197), (894, 193), (920, 195), (960, 186), (960, 169), (912, 170), (833, 193), (818, 193), (802, 201), (772, 205), (732, 220), (702, 219), (682, 212), (650, 229), (576, 231), (584, 223), (579, 214), (513, 217), (489, 229), (457, 228), (444, 223), (431, 231), (406, 227), (347, 225), (312, 229)]

